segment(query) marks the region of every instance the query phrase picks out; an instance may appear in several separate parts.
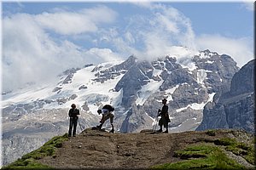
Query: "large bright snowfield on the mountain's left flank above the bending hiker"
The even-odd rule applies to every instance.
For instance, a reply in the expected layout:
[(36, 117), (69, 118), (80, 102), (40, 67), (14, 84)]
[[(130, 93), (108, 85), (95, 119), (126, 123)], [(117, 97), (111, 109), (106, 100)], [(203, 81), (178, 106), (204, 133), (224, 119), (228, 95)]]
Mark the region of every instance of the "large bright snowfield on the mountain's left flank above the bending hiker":
[[(116, 62), (108, 62), (102, 65), (99, 71), (104, 71), (113, 65), (118, 65), (121, 61)], [(86, 102), (90, 108), (90, 112), (92, 114), (97, 115), (97, 110), (100, 109), (99, 105), (96, 105), (97, 102), (101, 102), (102, 105), (110, 104), (117, 105), (119, 104), (119, 100), (122, 99), (122, 91), (114, 92), (114, 87), (119, 82), (119, 80), (124, 75), (119, 75), (114, 79), (110, 79), (102, 82), (94, 81), (96, 72), (91, 72), (96, 65), (92, 65), (77, 71), (71, 83), (64, 84), (61, 89), (61, 93), (63, 96), (67, 96), (67, 94), (76, 94), (78, 97), (76, 99), (72, 99), (67, 101), (63, 105), (55, 105), (55, 107), (70, 107), (73, 103), (78, 105), (78, 107), (84, 105)], [(81, 86), (86, 86), (86, 89), (80, 89)]]

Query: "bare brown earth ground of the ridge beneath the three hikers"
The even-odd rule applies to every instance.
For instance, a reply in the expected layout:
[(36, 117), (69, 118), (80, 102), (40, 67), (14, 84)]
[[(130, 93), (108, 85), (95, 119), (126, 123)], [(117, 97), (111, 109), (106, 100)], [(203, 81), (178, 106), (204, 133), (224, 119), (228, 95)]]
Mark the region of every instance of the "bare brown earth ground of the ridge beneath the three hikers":
[(145, 130), (142, 133), (107, 133), (89, 128), (67, 140), (55, 151), (55, 156), (38, 161), (60, 169), (142, 169), (182, 161), (173, 156), (174, 151), (182, 150), (188, 144), (220, 138), (236, 138), (245, 143), (252, 141), (244, 133), (221, 130), (210, 136), (206, 132), (149, 133)]

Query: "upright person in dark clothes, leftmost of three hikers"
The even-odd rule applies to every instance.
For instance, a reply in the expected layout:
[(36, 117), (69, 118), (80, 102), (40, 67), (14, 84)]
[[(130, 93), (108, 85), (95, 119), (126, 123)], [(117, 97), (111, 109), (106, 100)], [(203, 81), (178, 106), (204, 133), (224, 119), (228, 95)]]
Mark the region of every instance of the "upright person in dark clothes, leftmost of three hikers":
[(68, 116), (70, 118), (69, 121), (69, 130), (68, 130), (68, 137), (71, 137), (72, 129), (73, 129), (73, 137), (76, 136), (77, 125), (79, 120), (79, 109), (76, 108), (76, 105), (72, 104), (71, 109), (68, 111)]

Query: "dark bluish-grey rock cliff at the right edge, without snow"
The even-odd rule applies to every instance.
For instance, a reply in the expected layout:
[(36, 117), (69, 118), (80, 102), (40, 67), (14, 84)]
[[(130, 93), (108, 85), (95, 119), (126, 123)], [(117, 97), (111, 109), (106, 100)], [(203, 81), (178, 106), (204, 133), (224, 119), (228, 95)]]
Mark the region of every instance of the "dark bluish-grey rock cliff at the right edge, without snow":
[(196, 130), (241, 128), (254, 133), (254, 65), (255, 59), (241, 67), (232, 78), (230, 91), (216, 94), (203, 111), (203, 121)]

